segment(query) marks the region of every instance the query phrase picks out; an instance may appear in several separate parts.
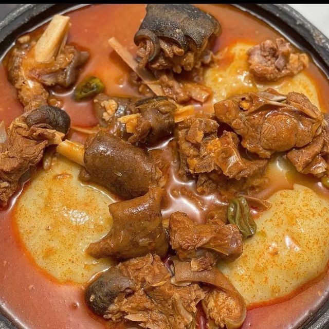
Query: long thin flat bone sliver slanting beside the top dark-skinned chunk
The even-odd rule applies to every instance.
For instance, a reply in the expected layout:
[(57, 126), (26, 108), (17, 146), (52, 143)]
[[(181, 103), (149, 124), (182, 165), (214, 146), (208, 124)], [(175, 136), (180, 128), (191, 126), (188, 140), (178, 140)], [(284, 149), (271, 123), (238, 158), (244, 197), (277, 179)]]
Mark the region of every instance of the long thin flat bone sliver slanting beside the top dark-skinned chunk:
[(164, 96), (163, 90), (159, 85), (155, 76), (146, 68), (138, 67), (138, 62), (134, 59), (133, 55), (126, 50), (116, 38), (108, 40), (109, 45), (116, 51), (122, 60), (142, 79), (152, 92), (157, 96)]

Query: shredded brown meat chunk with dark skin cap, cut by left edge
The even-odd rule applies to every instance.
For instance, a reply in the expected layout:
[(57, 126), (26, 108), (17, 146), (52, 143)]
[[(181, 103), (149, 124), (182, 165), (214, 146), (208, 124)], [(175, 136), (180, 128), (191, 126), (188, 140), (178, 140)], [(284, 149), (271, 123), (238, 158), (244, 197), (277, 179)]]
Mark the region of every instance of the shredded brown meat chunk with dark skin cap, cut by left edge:
[[(47, 106), (15, 119), (0, 143), (0, 208), (5, 207), (23, 174), (43, 157), (47, 145), (58, 143), (58, 132), (67, 133), (70, 118), (62, 109)], [(57, 132), (57, 131), (58, 132)], [(63, 134), (62, 134), (63, 135)]]

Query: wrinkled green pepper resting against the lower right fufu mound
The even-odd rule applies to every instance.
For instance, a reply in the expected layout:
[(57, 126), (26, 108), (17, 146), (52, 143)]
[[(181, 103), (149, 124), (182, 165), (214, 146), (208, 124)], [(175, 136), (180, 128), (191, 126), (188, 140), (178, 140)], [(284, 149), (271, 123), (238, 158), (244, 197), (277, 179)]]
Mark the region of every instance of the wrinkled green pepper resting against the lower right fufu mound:
[(257, 226), (253, 221), (247, 200), (243, 196), (231, 200), (227, 208), (227, 218), (231, 224), (235, 224), (243, 237), (256, 233)]

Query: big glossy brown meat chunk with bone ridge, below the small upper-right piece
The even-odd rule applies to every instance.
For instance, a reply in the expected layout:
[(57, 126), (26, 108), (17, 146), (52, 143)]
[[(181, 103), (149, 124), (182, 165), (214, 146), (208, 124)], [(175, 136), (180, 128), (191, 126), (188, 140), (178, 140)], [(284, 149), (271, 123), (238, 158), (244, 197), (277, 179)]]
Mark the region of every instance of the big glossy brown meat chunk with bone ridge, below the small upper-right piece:
[(305, 146), (322, 122), (321, 112), (306, 96), (280, 96), (273, 89), (236, 95), (214, 107), (218, 120), (229, 124), (242, 137), (243, 147), (262, 158)]

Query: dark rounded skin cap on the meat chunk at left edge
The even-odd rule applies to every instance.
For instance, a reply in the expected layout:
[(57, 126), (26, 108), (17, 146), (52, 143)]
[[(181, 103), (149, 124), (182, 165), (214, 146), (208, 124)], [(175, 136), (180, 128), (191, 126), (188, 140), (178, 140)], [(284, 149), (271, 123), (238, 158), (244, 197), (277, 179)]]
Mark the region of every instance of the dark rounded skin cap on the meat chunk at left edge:
[(69, 130), (71, 120), (68, 114), (61, 108), (45, 105), (29, 112), (26, 117), (26, 123), (29, 127), (37, 125), (66, 134)]

